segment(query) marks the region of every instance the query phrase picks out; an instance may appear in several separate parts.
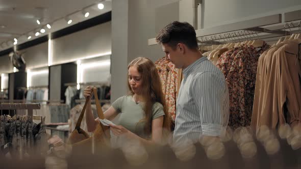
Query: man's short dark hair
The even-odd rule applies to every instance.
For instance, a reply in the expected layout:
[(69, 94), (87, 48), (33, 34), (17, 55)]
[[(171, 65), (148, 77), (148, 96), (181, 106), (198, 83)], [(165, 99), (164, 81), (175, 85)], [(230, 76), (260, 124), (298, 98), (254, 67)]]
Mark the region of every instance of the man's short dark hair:
[(194, 28), (187, 22), (173, 21), (167, 24), (157, 35), (156, 42), (168, 44), (173, 49), (178, 43), (184, 43), (189, 49), (198, 47)]

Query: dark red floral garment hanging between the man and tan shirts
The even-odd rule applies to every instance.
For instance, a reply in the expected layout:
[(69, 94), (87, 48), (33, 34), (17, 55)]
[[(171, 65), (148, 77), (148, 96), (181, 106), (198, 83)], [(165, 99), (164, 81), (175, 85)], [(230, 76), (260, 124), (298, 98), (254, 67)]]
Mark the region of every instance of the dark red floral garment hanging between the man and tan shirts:
[(258, 59), (268, 48), (266, 43), (262, 48), (242, 45), (219, 58), (217, 67), (225, 76), (230, 94), (229, 126), (234, 129), (250, 126)]

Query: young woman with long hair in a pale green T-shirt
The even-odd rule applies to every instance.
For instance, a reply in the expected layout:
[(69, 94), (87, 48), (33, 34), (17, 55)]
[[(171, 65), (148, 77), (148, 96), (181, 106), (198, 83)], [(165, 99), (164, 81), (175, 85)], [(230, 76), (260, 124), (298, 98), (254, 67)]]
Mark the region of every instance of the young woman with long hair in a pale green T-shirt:
[[(160, 143), (163, 128), (170, 129), (170, 118), (155, 64), (147, 58), (133, 60), (128, 66), (128, 79), (130, 94), (118, 98), (104, 112), (108, 120), (120, 114), (117, 125), (110, 125), (110, 129), (117, 136), (136, 138), (148, 144)], [(84, 96), (89, 98), (92, 93), (92, 88), (87, 87)], [(86, 123), (89, 132), (99, 123), (98, 118), (93, 118), (91, 102), (86, 108)]]

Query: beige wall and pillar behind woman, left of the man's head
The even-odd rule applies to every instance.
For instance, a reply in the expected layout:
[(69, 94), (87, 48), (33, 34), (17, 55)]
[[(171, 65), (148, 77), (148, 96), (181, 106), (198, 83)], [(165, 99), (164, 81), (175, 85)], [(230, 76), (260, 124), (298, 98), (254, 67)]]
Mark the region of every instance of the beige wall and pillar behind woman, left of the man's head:
[[(127, 65), (137, 57), (156, 61), (164, 56), (159, 45), (148, 46), (147, 39), (160, 28), (179, 20), (179, 8), (169, 4), (179, 0), (114, 0), (112, 1), (112, 93), (111, 101), (127, 94)], [(166, 6), (167, 5), (167, 6)], [(156, 9), (166, 15), (156, 17)], [(160, 29), (162, 29), (162, 27)], [(122, 29), (120, 29), (122, 28)], [(158, 29), (159, 30), (159, 29)]]

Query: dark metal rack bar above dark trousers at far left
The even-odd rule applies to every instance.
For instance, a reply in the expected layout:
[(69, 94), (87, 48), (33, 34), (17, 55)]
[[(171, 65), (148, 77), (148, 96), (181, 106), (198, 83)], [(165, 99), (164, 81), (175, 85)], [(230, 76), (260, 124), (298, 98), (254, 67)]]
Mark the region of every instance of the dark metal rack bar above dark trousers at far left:
[(38, 103), (1, 103), (0, 110), (27, 110), (27, 116), (33, 116), (34, 109), (41, 109), (41, 105)]

